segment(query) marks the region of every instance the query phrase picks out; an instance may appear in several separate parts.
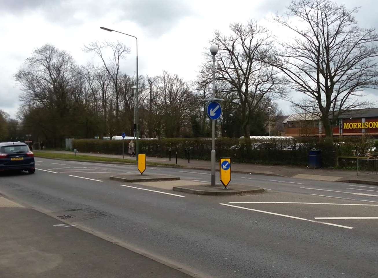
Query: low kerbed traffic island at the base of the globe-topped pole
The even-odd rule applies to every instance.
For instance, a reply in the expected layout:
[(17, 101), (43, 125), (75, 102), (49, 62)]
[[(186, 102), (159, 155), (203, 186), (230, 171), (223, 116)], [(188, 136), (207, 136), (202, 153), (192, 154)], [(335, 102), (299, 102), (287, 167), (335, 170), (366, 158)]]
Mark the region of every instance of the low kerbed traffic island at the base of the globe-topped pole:
[(237, 195), (244, 193), (263, 193), (265, 190), (259, 186), (232, 184), (211, 186), (209, 184), (174, 186), (173, 190), (199, 195)]

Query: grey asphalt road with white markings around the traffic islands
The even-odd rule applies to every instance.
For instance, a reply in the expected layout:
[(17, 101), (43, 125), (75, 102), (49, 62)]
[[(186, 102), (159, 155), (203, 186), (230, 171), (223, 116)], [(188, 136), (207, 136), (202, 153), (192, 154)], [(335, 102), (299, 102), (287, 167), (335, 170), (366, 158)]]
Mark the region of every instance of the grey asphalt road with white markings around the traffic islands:
[[(229, 186), (266, 193), (196, 196), (108, 179), (135, 166), (36, 163), (34, 175), (2, 174), (0, 193), (53, 216), (70, 214), (78, 226), (200, 276), (378, 276), (375, 186), (233, 173)], [(208, 171), (146, 171), (210, 180)]]

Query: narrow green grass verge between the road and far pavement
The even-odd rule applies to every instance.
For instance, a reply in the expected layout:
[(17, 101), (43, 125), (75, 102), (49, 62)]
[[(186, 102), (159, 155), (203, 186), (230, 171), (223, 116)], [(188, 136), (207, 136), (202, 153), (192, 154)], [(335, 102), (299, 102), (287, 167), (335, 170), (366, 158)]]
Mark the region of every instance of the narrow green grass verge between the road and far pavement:
[[(135, 160), (130, 159), (121, 159), (121, 158), (112, 158), (112, 157), (100, 157), (94, 155), (82, 155), (82, 154), (59, 154), (56, 152), (46, 152), (46, 151), (33, 151), (35, 157), (41, 158), (51, 158), (51, 159), (64, 159), (64, 160), (85, 160), (88, 162), (91, 161), (99, 161), (99, 162), (118, 162), (118, 163), (131, 163), (136, 164)], [(147, 165), (160, 165), (160, 166), (170, 166), (172, 168), (179, 168), (180, 165), (172, 165), (166, 163), (158, 163), (158, 162), (148, 162), (147, 158)]]

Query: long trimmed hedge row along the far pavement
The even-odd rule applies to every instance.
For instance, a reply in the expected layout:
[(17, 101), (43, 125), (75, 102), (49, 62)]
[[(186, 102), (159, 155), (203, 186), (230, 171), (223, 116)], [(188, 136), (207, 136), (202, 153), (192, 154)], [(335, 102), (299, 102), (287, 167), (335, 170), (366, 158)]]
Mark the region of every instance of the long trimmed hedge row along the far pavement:
[[(125, 140), (127, 154), (130, 140)], [(308, 152), (312, 149), (321, 150), (322, 166), (336, 166), (338, 156), (355, 156), (357, 152), (372, 151), (376, 142), (369, 137), (342, 137), (332, 140), (318, 138), (297, 138), (285, 141), (251, 141), (244, 139), (218, 138), (215, 140), (217, 158), (232, 157), (234, 162), (275, 164), (275, 165), (307, 165)], [(73, 141), (79, 152), (102, 154), (122, 154), (122, 140), (79, 139)], [(378, 147), (378, 144), (377, 144)], [(177, 151), (178, 157), (185, 158), (186, 150), (190, 150), (191, 159), (210, 159), (211, 139), (209, 138), (164, 138), (161, 140), (139, 140), (139, 152), (147, 156), (167, 157), (169, 149), (172, 157)], [(373, 150), (374, 151), (374, 150)], [(378, 148), (377, 148), (378, 151)]]

